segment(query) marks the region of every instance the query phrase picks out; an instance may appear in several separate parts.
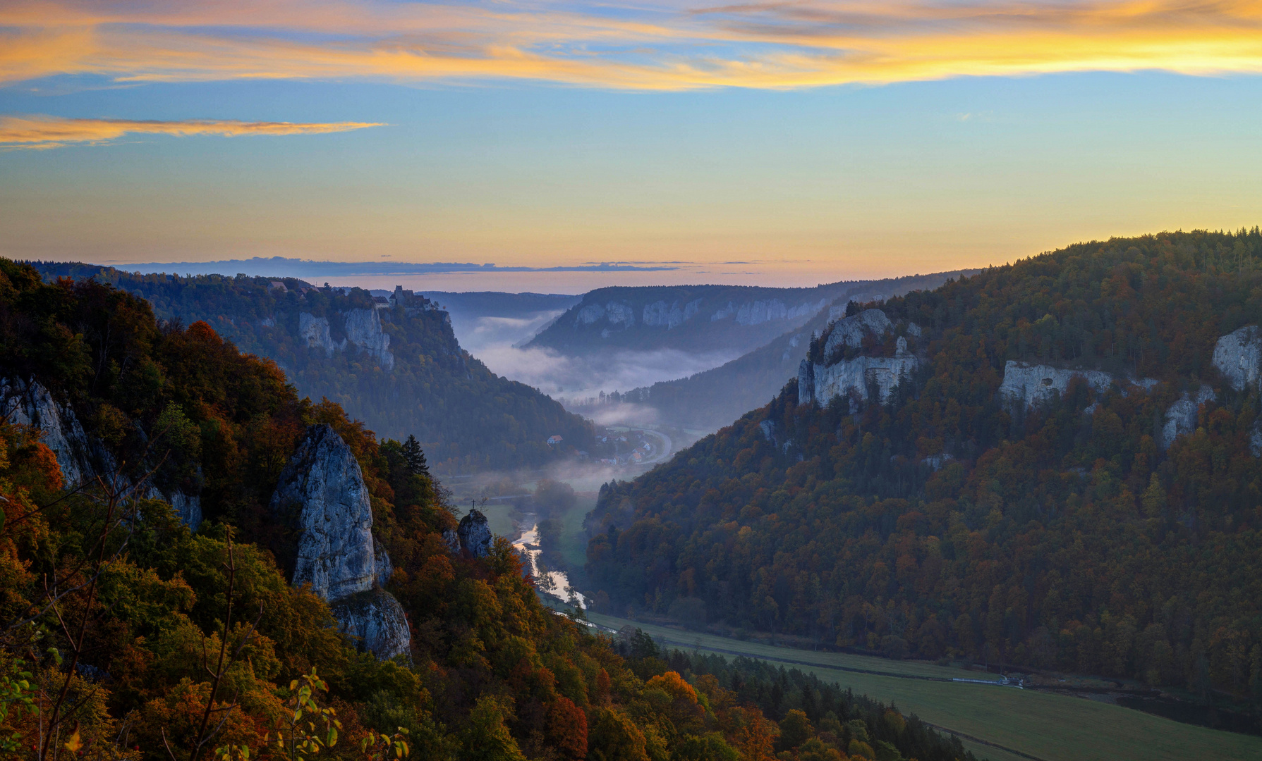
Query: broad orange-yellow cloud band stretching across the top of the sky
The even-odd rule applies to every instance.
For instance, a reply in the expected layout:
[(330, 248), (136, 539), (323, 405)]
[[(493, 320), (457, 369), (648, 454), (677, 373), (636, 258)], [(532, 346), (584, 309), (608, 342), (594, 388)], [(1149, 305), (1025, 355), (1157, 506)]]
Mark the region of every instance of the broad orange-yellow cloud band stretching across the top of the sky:
[(535, 79), (632, 89), (1262, 72), (1258, 0), (16, 3), (0, 82)]

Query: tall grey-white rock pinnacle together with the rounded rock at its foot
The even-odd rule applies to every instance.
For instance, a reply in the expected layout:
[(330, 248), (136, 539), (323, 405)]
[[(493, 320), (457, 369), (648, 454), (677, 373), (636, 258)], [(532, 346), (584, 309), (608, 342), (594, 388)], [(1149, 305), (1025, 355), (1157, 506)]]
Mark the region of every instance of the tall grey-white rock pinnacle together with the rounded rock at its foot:
[(293, 583), (309, 583), (329, 601), (342, 631), (360, 636), (377, 658), (408, 651), (410, 634), (399, 602), (379, 586), (389, 568), (372, 537), (372, 504), (351, 447), (327, 425), (312, 426), (280, 474), (271, 496), (278, 515), (297, 515)]

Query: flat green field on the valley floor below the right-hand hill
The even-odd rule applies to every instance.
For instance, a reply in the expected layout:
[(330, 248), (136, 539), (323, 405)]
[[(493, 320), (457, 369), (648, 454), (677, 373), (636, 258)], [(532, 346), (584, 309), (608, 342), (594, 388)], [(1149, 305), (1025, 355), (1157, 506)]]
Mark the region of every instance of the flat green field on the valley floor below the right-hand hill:
[[(1100, 703), (1013, 687), (928, 682), (915, 677), (986, 678), (978, 672), (928, 663), (897, 661), (847, 653), (775, 648), (728, 638), (693, 634), (589, 614), (593, 624), (620, 629), (627, 624), (683, 649), (741, 654), (785, 663), (856, 693), (892, 702), (904, 713), (960, 735), (1045, 761), (1186, 761), (1189, 758), (1262, 758), (1262, 737), (1219, 732)], [(809, 665), (808, 665), (809, 664)], [(883, 672), (878, 675), (864, 672)], [(963, 738), (979, 758), (1020, 761), (1021, 756)]]

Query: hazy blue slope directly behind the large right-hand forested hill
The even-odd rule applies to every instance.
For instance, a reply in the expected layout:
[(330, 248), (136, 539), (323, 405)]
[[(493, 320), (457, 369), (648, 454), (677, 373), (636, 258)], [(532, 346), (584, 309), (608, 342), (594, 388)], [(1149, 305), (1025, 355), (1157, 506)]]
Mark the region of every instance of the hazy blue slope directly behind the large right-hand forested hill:
[[(688, 378), (631, 389), (620, 394), (620, 401), (651, 407), (658, 420), (671, 426), (717, 431), (780, 393), (785, 382), (798, 374), (798, 363), (806, 357), (811, 334), (823, 331), (830, 320), (843, 316), (846, 305), (852, 299), (863, 302), (901, 296), (910, 291), (933, 290), (953, 277), (972, 272), (976, 271), (848, 283), (840, 297), (747, 354)], [(596, 412), (582, 404), (572, 403), (570, 408), (583, 413)]]

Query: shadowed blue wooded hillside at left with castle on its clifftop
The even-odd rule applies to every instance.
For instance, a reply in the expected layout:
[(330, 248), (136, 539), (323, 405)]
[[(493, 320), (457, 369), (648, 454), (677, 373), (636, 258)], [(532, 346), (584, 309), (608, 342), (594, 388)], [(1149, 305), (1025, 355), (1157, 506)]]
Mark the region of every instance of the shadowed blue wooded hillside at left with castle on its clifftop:
[[(423, 297), (374, 309), (367, 291), (294, 278), (35, 267), (115, 285), (146, 299), (160, 320), (206, 321), (242, 352), (275, 360), (300, 393), (337, 402), (384, 436), (416, 436), (438, 471), (536, 466), (593, 443), (581, 417), (462, 350), (447, 314)], [(563, 443), (548, 446), (550, 436)]]

